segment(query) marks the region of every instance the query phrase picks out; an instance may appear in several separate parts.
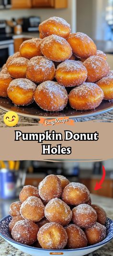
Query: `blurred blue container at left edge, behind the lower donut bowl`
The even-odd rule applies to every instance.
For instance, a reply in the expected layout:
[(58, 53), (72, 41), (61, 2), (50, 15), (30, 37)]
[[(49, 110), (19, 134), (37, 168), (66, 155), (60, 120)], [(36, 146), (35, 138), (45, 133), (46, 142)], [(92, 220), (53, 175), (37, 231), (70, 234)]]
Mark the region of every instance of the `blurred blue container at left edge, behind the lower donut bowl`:
[(0, 170), (0, 198), (14, 199), (16, 197), (16, 176), (14, 171)]

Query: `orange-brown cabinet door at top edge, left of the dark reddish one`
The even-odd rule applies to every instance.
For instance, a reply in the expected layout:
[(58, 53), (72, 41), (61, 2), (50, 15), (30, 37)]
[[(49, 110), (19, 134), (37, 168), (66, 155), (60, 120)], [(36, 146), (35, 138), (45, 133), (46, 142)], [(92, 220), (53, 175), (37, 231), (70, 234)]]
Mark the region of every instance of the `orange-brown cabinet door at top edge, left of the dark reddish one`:
[(12, 9), (32, 8), (32, 0), (11, 0)]

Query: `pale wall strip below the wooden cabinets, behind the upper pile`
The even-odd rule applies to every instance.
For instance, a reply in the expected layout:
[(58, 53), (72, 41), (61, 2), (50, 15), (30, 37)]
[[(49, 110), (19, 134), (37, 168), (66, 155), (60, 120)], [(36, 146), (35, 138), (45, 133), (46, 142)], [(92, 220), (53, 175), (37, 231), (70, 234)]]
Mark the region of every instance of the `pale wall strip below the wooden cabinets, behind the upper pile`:
[(76, 0), (68, 0), (67, 9), (24, 9), (24, 10), (3, 10), (0, 11), (0, 19), (10, 20), (12, 17), (27, 17), (27, 16), (40, 16), (41, 20), (51, 16), (59, 16), (68, 21), (71, 24), (72, 29), (76, 29)]

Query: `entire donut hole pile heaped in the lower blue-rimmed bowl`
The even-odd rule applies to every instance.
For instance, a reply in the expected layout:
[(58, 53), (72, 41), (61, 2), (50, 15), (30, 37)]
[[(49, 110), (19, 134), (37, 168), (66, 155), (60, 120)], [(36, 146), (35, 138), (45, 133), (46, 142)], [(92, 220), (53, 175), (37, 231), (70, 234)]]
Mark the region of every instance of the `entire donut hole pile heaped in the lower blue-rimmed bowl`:
[(25, 186), (10, 206), (9, 231), (19, 243), (43, 249), (76, 249), (106, 237), (106, 213), (92, 204), (81, 183), (48, 175), (38, 188)]

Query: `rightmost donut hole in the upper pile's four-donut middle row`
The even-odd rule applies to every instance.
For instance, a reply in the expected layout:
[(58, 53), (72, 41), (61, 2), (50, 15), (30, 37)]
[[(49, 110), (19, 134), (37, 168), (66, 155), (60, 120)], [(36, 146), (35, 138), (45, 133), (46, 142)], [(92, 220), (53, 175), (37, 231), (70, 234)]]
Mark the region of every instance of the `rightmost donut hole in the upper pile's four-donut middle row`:
[(88, 71), (88, 82), (96, 82), (106, 77), (109, 72), (109, 65), (106, 60), (99, 56), (91, 56), (83, 62)]

